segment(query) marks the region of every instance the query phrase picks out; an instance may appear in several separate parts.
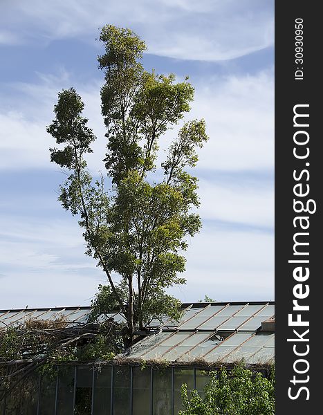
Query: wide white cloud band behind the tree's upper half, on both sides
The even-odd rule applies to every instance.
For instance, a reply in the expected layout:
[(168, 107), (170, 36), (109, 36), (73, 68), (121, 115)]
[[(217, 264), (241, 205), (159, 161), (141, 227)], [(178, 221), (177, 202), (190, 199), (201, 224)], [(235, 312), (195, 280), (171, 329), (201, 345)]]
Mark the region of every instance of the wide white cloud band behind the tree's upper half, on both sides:
[[(71, 79), (62, 69), (57, 76), (41, 75), (37, 84), (20, 83), (12, 86), (19, 100), (8, 98), (0, 107), (0, 168), (48, 167), (48, 147), (55, 142), (46, 133), (53, 119), (57, 92), (70, 86)], [(274, 107), (273, 74), (241, 75), (201, 80), (196, 86), (196, 98), (187, 119), (205, 118), (209, 142), (200, 153), (199, 167), (210, 171), (273, 170), (274, 166)], [(77, 88), (85, 102), (84, 114), (89, 118), (98, 140), (89, 156), (93, 172), (102, 170), (106, 138), (100, 113), (100, 84), (92, 82)], [(12, 95), (17, 96), (17, 95)], [(15, 111), (12, 110), (15, 108)], [(169, 131), (163, 142), (174, 137)]]

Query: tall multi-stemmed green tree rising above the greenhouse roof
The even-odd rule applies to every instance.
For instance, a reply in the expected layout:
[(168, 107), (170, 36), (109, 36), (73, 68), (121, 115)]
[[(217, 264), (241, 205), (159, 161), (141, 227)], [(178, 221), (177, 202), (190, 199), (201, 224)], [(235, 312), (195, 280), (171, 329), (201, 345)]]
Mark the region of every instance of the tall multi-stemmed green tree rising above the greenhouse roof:
[(47, 131), (59, 145), (50, 149), (50, 160), (68, 169), (59, 201), (80, 216), (86, 253), (107, 275), (109, 284), (100, 286), (93, 312), (118, 307), (127, 320), (129, 345), (135, 326), (144, 329), (154, 318), (178, 317), (179, 302), (165, 289), (185, 282), (178, 277), (185, 270), (185, 237), (201, 228), (192, 212), (199, 206), (198, 181), (187, 167), (196, 165), (196, 147), (207, 135), (204, 120), (184, 123), (156, 174), (158, 140), (190, 111), (194, 89), (187, 78), (176, 82), (173, 74), (145, 71), (140, 63), (145, 42), (131, 30), (104, 26), (100, 41), (105, 48), (98, 57), (108, 141), (104, 162), (111, 189), (106, 190), (103, 176), (93, 183), (86, 167), (95, 136), (75, 89), (59, 93)]

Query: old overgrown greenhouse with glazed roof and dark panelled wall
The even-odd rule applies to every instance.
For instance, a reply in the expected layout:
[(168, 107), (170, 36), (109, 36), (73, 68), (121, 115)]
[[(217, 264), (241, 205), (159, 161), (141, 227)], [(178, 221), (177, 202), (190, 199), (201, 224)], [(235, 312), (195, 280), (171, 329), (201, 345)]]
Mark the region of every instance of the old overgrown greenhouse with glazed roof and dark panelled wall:
[[(151, 322), (127, 353), (109, 363), (59, 365), (54, 376), (33, 371), (0, 404), (1, 415), (174, 415), (181, 385), (203, 394), (211, 369), (245, 360), (266, 371), (274, 360), (273, 302), (183, 304), (179, 322)], [(0, 324), (61, 313), (80, 324), (89, 308), (0, 311)], [(113, 315), (116, 320), (122, 318)], [(28, 391), (28, 399), (21, 394)]]

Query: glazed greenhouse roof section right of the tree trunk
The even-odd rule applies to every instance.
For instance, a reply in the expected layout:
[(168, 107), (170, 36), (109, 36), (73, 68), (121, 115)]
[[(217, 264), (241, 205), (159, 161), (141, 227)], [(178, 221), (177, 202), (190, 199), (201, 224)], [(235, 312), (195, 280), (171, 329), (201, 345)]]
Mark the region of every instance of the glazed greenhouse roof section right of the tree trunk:
[(165, 322), (117, 359), (268, 365), (274, 360), (274, 314), (273, 302), (191, 304), (178, 324)]

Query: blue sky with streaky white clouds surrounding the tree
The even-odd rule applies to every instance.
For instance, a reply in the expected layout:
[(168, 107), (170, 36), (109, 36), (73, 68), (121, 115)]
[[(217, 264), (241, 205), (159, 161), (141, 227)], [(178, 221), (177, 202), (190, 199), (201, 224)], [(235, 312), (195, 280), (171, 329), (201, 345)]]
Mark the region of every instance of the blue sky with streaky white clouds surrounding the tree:
[(106, 282), (57, 201), (64, 174), (46, 133), (57, 93), (75, 87), (98, 137), (89, 169), (104, 172), (96, 39), (105, 24), (145, 40), (147, 70), (189, 75), (185, 120), (204, 118), (210, 137), (194, 170), (203, 229), (188, 240), (187, 284), (169, 293), (274, 299), (273, 16), (273, 0), (1, 0), (0, 309), (86, 306)]

